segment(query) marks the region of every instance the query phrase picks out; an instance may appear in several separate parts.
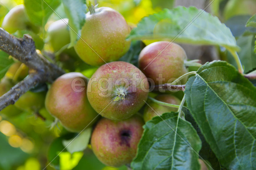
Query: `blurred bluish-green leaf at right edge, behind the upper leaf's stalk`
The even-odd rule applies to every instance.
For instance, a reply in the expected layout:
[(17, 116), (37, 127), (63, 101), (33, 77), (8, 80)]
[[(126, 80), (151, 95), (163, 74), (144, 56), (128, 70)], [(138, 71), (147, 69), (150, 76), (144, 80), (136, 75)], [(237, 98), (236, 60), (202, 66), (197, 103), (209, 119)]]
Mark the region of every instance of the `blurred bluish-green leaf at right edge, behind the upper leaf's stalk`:
[[(256, 67), (254, 40), (254, 35), (240, 36), (237, 38), (237, 45), (241, 47), (241, 50), (237, 54), (244, 66), (245, 73)], [(230, 53), (227, 53), (227, 61), (237, 68), (237, 63)]]

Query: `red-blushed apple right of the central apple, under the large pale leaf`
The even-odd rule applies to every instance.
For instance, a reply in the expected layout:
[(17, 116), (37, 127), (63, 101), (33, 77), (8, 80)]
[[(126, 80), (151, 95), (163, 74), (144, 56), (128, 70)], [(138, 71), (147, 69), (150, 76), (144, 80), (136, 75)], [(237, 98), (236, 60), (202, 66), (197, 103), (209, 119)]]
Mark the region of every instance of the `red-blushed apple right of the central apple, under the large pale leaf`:
[[(139, 54), (139, 69), (148, 77), (153, 79), (156, 85), (159, 84), (157, 78), (158, 74), (163, 74), (165, 80), (162, 84), (167, 83), (171, 78), (175, 78), (187, 73), (184, 66), (184, 60), (187, 60), (187, 55), (184, 49), (178, 44), (171, 43), (155, 60), (154, 58), (161, 52), (167, 45), (168, 41), (159, 41), (147, 45)], [(154, 60), (154, 61), (153, 61)], [(153, 62), (152, 62), (153, 61)], [(152, 62), (148, 67), (147, 65)], [(144, 69), (147, 67), (146, 69)], [(187, 78), (181, 80), (185, 84)]]

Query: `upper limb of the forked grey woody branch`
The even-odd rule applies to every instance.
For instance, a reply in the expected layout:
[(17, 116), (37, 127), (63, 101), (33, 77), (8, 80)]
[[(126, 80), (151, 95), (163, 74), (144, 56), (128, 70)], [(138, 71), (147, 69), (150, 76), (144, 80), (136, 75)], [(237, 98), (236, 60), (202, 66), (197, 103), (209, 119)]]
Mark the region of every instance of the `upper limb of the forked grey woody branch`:
[(64, 74), (62, 69), (36, 52), (35, 43), (29, 35), (16, 38), (0, 28), (0, 49), (40, 74), (41, 81), (53, 82)]

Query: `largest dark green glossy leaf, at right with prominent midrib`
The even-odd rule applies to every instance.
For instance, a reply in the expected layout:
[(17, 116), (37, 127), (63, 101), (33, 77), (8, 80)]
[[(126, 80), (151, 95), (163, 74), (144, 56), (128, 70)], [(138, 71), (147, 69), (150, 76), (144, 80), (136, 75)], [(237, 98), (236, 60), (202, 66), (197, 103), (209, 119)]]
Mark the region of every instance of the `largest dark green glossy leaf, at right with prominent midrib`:
[(191, 114), (220, 163), (256, 166), (256, 87), (224, 61), (206, 63), (184, 93)]

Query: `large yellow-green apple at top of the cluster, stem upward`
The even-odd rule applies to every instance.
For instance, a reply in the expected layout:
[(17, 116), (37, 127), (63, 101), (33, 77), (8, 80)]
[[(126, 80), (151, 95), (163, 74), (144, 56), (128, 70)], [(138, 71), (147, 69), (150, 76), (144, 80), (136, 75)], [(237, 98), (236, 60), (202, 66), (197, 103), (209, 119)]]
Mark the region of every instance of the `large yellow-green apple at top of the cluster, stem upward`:
[[(130, 28), (120, 13), (108, 7), (100, 7), (95, 9), (95, 13), (86, 14), (81, 37), (105, 62), (112, 62), (129, 50), (131, 41), (125, 39), (129, 33)], [(104, 64), (83, 40), (79, 39), (74, 46), (79, 57), (93, 66)]]

